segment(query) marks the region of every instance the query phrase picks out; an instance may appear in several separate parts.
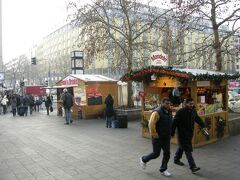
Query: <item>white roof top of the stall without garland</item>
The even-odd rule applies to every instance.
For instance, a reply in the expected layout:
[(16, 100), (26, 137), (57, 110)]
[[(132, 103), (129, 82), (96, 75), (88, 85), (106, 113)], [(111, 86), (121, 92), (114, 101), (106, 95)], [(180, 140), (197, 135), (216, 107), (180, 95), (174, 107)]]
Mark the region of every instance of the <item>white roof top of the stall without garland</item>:
[(115, 79), (111, 79), (98, 74), (71, 74), (70, 76), (83, 80), (85, 82), (117, 82)]

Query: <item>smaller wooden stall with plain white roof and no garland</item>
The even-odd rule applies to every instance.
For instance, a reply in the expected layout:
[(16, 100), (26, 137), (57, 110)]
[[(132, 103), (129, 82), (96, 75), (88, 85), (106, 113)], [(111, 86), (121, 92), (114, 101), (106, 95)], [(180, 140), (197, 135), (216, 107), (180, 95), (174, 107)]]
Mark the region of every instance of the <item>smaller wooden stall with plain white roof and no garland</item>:
[(67, 88), (74, 97), (72, 116), (84, 119), (103, 115), (105, 98), (110, 93), (114, 98), (114, 107), (118, 105), (117, 81), (102, 75), (70, 74), (57, 82), (58, 115), (62, 115), (61, 95)]

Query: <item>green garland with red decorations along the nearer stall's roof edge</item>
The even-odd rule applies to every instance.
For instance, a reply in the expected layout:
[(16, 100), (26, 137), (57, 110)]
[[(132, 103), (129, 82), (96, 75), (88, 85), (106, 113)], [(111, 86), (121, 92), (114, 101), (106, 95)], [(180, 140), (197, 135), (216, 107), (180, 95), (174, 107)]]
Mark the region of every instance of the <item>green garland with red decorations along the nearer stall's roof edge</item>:
[(239, 74), (197, 74), (193, 75), (190, 72), (184, 72), (171, 67), (162, 66), (146, 66), (138, 70), (130, 71), (122, 76), (121, 81), (137, 81), (137, 82), (151, 82), (151, 75), (155, 74), (157, 77), (168, 75), (176, 77), (182, 84), (186, 84), (188, 81), (206, 81), (211, 80), (216, 84), (220, 84), (223, 79), (237, 79)]

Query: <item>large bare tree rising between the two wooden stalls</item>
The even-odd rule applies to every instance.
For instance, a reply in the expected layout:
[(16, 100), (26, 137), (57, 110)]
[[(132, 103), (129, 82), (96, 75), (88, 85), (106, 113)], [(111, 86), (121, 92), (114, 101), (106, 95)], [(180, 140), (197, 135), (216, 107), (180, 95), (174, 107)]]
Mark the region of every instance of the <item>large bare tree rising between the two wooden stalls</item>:
[[(72, 2), (71, 20), (81, 27), (81, 39), (85, 47), (85, 64), (90, 65), (101, 53), (117, 57), (109, 65), (122, 72), (133, 70), (133, 57), (141, 45), (145, 44), (143, 34), (154, 26), (163, 28), (162, 18), (172, 9), (161, 10), (151, 6), (153, 1), (143, 4), (140, 0), (95, 0), (78, 6)], [(159, 3), (165, 4), (161, 1)], [(148, 48), (145, 44), (145, 48)], [(112, 58), (113, 59), (113, 58)], [(128, 82), (128, 106), (133, 106), (132, 82)]]

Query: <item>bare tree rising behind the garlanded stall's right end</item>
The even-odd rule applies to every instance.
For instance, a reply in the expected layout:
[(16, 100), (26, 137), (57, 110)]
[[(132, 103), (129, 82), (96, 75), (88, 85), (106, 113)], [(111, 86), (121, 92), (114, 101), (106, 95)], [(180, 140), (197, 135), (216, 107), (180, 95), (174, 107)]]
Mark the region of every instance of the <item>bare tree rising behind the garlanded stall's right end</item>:
[[(237, 25), (240, 23), (239, 0), (177, 0), (175, 3), (178, 9), (176, 18), (184, 17), (185, 21), (191, 18), (201, 20), (202, 25), (196, 24), (196, 27), (199, 30), (210, 32), (205, 37), (206, 41), (201, 42), (202, 44), (199, 44), (197, 49), (204, 52), (212, 48), (215, 54), (216, 70), (222, 71), (223, 54), (233, 52), (229, 41), (240, 30), (240, 26)], [(188, 16), (183, 16), (180, 12), (184, 12)], [(210, 54), (212, 55), (212, 53)]]

